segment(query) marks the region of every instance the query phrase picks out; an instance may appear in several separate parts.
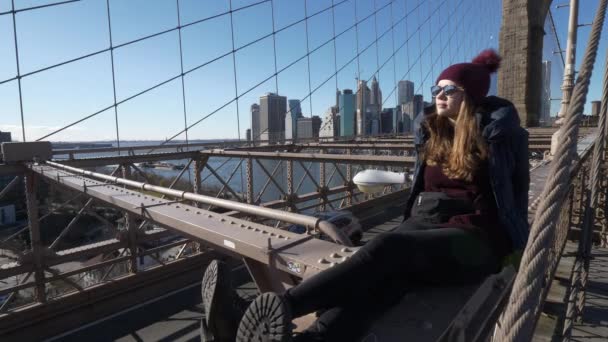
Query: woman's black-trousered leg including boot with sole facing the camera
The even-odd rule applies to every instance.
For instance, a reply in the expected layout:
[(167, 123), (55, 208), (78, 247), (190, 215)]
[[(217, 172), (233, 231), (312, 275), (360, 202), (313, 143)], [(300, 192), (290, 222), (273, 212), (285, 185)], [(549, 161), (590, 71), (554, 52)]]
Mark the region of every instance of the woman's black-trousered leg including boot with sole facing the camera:
[(338, 336), (349, 329), (349, 321), (360, 319), (361, 326), (370, 324), (373, 318), (364, 314), (365, 306), (375, 305), (377, 300), (398, 298), (419, 286), (474, 281), (498, 271), (499, 266), (487, 239), (475, 231), (440, 228), (383, 234), (347, 261), (284, 295), (264, 293), (256, 298), (241, 319), (237, 341), (290, 341), (293, 318), (320, 309), (348, 307), (335, 312), (326, 323), (327, 333)]

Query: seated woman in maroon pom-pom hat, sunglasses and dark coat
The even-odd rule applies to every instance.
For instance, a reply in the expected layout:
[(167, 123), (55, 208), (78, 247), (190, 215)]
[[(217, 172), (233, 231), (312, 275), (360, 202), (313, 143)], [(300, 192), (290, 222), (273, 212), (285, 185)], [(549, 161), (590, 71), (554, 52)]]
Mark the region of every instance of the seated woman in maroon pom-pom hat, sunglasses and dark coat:
[(355, 341), (408, 290), (478, 281), (525, 247), (528, 141), (513, 105), (486, 97), (500, 58), (486, 50), (437, 78), (419, 115), (405, 220), (352, 258), (247, 309), (237, 341), (291, 341), (291, 320), (326, 310), (298, 341)]

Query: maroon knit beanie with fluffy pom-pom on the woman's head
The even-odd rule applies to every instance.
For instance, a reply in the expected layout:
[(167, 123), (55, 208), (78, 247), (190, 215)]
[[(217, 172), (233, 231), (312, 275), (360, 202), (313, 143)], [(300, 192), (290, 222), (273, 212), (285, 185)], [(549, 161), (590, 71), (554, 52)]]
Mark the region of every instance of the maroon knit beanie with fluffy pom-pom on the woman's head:
[(463, 87), (475, 103), (480, 103), (490, 90), (490, 74), (500, 66), (500, 56), (494, 50), (484, 50), (471, 63), (459, 63), (443, 70), (437, 81), (450, 80)]

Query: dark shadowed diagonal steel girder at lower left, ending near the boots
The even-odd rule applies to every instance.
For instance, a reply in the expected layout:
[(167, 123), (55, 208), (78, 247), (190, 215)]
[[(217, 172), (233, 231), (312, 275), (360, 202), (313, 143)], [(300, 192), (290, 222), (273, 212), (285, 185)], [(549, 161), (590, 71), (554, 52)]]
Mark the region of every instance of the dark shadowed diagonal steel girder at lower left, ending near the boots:
[[(41, 336), (46, 338), (74, 329), (109, 316), (117, 310), (124, 310), (134, 304), (150, 300), (160, 292), (182, 288), (192, 284), (196, 279), (200, 281), (202, 267), (212, 258), (217, 257), (216, 253), (199, 253), (167, 261), (165, 266), (155, 266), (137, 274), (127, 274), (113, 279), (110, 283), (101, 283), (80, 292), (68, 293), (44, 305), (33, 303), (0, 314), (0, 336), (7, 341), (38, 340)], [(115, 263), (123, 259), (108, 262)], [(92, 267), (107, 266), (108, 262)], [(49, 280), (60, 280), (69, 275), (74, 274), (63, 273), (52, 276)], [(41, 330), (33, 331), (30, 327), (38, 327)]]

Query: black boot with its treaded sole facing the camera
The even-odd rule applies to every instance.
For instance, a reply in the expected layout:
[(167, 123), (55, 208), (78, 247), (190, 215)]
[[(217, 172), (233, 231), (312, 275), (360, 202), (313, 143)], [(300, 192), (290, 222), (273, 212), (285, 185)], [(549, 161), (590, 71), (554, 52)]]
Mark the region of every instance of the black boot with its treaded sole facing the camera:
[(267, 292), (245, 311), (237, 342), (288, 342), (292, 340), (291, 308), (284, 298)]

